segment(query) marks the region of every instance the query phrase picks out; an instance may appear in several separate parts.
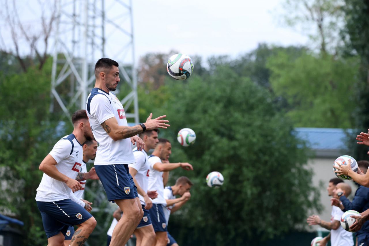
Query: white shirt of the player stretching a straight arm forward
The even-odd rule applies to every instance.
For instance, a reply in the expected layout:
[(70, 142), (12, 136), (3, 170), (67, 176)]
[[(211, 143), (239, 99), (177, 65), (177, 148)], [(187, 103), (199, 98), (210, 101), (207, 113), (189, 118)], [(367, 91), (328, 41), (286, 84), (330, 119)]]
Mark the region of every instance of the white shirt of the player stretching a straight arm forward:
[(150, 166), (149, 171), (149, 186), (148, 190), (156, 190), (158, 197), (152, 200), (154, 204), (163, 204), (166, 206), (166, 201), (164, 199), (164, 183), (163, 183), (163, 172), (154, 169), (155, 163), (162, 163), (158, 156), (151, 155), (148, 157), (148, 162)]

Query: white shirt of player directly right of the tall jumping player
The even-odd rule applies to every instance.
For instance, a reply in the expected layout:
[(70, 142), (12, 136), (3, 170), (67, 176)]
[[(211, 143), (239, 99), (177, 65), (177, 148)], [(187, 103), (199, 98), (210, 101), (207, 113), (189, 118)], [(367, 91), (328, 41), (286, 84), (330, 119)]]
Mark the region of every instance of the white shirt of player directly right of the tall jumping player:
[[(149, 162), (147, 160), (148, 156), (145, 150), (137, 150), (137, 147), (133, 149), (133, 155), (135, 156), (136, 163), (129, 164), (129, 167), (136, 169), (137, 173), (135, 179), (142, 190), (147, 193), (147, 187), (149, 183)], [(139, 200), (142, 205), (146, 205), (144, 197), (138, 194)]]

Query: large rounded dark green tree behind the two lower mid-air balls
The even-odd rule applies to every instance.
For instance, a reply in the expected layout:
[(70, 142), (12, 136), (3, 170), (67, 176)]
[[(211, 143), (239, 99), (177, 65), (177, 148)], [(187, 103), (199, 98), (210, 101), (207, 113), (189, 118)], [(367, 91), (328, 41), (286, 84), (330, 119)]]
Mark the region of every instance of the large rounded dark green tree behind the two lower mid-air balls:
[[(180, 245), (246, 245), (250, 238), (273, 238), (303, 222), (308, 209), (319, 208), (305, 145), (268, 90), (218, 66), (212, 76), (194, 76), (172, 84), (170, 91), (173, 97), (156, 110), (168, 115), (171, 125), (160, 137), (172, 142), (171, 162), (194, 167), (170, 174), (172, 183), (182, 175), (194, 183), (191, 200), (169, 223), (169, 230), (181, 225), (171, 231)], [(188, 148), (176, 140), (184, 127), (197, 136)], [(221, 188), (206, 186), (210, 171), (223, 174)]]

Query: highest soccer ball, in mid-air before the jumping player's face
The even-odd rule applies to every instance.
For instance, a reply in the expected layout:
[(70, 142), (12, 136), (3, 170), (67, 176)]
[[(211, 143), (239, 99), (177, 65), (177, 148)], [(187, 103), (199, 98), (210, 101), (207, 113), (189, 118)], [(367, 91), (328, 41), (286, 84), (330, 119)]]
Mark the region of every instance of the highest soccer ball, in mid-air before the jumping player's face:
[(175, 54), (170, 56), (166, 70), (176, 80), (185, 80), (192, 75), (193, 62), (189, 56), (182, 53)]

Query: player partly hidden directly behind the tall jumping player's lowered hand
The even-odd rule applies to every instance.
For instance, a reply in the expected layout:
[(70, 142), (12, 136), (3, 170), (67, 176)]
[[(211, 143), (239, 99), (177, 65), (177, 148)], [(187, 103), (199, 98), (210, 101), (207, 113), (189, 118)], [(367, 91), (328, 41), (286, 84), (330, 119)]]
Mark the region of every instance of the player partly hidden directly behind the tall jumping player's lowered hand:
[(155, 231), (151, 224), (149, 209), (152, 207), (152, 200), (150, 198), (155, 199), (158, 193), (156, 190), (148, 191), (147, 189), (150, 168), (147, 153), (150, 149), (154, 149), (159, 142), (158, 133), (159, 129), (154, 129), (152, 131), (141, 132), (138, 135), (144, 142), (145, 147), (142, 151), (139, 151), (137, 148), (133, 149), (136, 163), (128, 165), (130, 174), (137, 186), (138, 197), (141, 201), (142, 210), (144, 211), (144, 216), (134, 231), (137, 238), (136, 246), (154, 245), (155, 243)]

